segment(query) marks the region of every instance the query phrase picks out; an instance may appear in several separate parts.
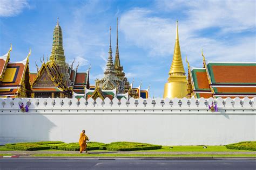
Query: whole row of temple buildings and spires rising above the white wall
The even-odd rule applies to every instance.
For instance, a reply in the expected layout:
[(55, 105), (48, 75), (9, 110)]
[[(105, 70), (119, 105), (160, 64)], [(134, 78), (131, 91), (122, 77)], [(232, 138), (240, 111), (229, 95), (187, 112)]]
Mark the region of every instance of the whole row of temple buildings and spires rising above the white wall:
[[(148, 98), (149, 88), (133, 87), (124, 73), (120, 62), (118, 45), (118, 20), (116, 54), (113, 60), (111, 44), (111, 27), (109, 41), (109, 55), (104, 77), (96, 79), (95, 85), (90, 84), (90, 68), (86, 72), (78, 72), (79, 62), (73, 67), (66, 62), (62, 29), (57, 21), (53, 30), (53, 42), (50, 58), (40, 59), (42, 66), (37, 66), (36, 72), (29, 70), (29, 56), (23, 61), (11, 62), (12, 46), (9, 51), (0, 56), (0, 97), (92, 97), (119, 100), (124, 97)], [(256, 62), (211, 62), (203, 56), (203, 68), (188, 66), (188, 76), (185, 75), (181, 58), (176, 26), (176, 42), (173, 60), (169, 71), (169, 79), (165, 83), (164, 98), (217, 98), (217, 97), (256, 97)]]

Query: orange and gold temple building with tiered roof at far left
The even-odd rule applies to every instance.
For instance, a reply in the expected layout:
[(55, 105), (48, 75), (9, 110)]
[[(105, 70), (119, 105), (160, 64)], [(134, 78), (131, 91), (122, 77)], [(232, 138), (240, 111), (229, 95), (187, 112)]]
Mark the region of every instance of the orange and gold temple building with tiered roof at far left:
[(8, 53), (0, 56), (0, 97), (31, 97), (29, 81), (29, 52), (23, 61), (10, 62)]

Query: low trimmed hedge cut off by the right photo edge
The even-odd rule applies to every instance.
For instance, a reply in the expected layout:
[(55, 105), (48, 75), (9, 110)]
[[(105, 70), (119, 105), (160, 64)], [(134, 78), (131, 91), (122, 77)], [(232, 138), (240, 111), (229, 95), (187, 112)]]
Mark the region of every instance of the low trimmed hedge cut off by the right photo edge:
[(235, 144), (226, 145), (230, 150), (250, 150), (256, 151), (256, 141), (242, 141)]

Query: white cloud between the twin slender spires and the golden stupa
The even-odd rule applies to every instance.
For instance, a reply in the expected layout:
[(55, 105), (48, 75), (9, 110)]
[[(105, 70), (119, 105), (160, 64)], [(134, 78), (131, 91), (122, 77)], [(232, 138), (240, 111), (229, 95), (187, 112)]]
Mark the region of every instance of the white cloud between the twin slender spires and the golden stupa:
[(169, 19), (149, 17), (150, 10), (135, 8), (120, 18), (120, 31), (126, 40), (149, 51), (150, 55), (170, 54), (171, 22)]

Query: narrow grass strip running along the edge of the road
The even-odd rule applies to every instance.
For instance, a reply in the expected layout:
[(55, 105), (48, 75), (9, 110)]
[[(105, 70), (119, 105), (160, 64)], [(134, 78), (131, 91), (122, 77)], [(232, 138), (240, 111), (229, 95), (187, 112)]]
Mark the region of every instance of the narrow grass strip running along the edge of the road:
[(250, 157), (256, 158), (256, 154), (33, 154), (31, 157), (209, 157), (209, 158), (222, 158), (222, 157)]

